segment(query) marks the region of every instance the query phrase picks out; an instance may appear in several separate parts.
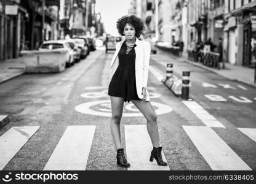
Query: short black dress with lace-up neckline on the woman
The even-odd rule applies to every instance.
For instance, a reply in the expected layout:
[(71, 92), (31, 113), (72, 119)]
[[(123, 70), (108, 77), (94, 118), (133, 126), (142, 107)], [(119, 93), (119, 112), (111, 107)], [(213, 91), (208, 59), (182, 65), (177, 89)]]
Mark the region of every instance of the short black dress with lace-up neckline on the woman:
[(108, 86), (108, 95), (124, 98), (124, 101), (130, 102), (131, 99), (138, 98), (135, 79), (135, 50), (136, 44), (126, 53), (126, 42), (124, 42), (118, 53), (119, 65), (114, 72), (110, 85)]

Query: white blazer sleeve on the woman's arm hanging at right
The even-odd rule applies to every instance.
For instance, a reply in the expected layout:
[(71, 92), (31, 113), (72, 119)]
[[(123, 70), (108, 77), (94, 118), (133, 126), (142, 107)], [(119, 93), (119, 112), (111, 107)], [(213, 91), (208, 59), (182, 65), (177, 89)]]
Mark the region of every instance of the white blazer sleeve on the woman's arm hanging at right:
[(142, 80), (142, 87), (146, 88), (148, 85), (148, 67), (150, 66), (150, 53), (151, 53), (151, 46), (150, 42), (144, 42), (143, 45), (143, 80)]

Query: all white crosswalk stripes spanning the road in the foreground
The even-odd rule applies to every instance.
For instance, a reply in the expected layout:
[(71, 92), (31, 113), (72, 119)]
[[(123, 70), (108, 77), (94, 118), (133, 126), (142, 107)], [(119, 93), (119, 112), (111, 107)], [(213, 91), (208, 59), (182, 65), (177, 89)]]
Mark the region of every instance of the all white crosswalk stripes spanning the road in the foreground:
[[(45, 171), (53, 170), (86, 170), (90, 150), (93, 146), (97, 126), (67, 126), (63, 136), (58, 141), (49, 160), (44, 166)], [(193, 147), (198, 150), (212, 170), (252, 170), (239, 155), (218, 136), (209, 126), (182, 126), (191, 140)], [(39, 126), (12, 127), (0, 137), (0, 169), (14, 158), (18, 151), (35, 136)], [(239, 128), (247, 139), (254, 140), (256, 129)], [(162, 167), (149, 161), (152, 144), (146, 125), (124, 125), (124, 138), (127, 160), (131, 164), (128, 171), (159, 171), (170, 170), (172, 165), (166, 159), (166, 146), (162, 150), (162, 158), (169, 167)], [(167, 147), (172, 147), (168, 145)], [(104, 151), (104, 150), (103, 150)], [(115, 157), (115, 156), (113, 156)]]

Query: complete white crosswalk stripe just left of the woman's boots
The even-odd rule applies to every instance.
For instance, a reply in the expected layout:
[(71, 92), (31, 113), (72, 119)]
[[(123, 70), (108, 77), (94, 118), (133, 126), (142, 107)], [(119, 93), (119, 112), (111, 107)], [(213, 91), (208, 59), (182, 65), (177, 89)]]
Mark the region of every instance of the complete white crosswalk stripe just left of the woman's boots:
[(95, 128), (68, 126), (44, 170), (85, 170)]

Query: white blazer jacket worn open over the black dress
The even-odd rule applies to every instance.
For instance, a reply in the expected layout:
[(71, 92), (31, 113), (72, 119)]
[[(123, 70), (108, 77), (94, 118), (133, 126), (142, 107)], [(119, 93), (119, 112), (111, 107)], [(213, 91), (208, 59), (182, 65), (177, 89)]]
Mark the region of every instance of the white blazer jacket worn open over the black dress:
[[(110, 81), (108, 85), (110, 85), (111, 79), (116, 72), (116, 69), (119, 65), (119, 58), (118, 53), (121, 49), (122, 44), (126, 39), (118, 42), (116, 44), (116, 52), (111, 60), (110, 64)], [(136, 79), (136, 88), (138, 98), (142, 99), (142, 88), (146, 88), (148, 85), (148, 67), (150, 65), (150, 53), (151, 53), (151, 46), (150, 42), (138, 40), (136, 38), (135, 44), (137, 45), (135, 49), (136, 59), (135, 59), (135, 79)], [(146, 89), (147, 98), (146, 101), (150, 102), (150, 96), (148, 95), (148, 90)]]

